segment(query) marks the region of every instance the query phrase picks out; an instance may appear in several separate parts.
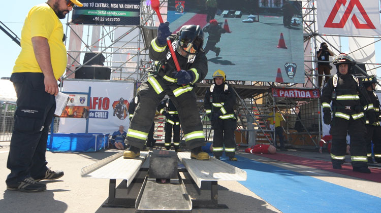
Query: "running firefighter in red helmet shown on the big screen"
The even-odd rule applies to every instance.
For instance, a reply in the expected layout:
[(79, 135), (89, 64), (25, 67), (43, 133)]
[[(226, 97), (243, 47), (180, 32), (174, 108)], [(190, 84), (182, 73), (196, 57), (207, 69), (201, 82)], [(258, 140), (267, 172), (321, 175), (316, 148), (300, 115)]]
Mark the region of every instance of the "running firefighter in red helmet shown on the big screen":
[(225, 33), (226, 30), (222, 28), (218, 22), (215, 19), (210, 20), (210, 24), (206, 27), (204, 27), (204, 32), (209, 33), (208, 41), (205, 45), (205, 54), (209, 52), (209, 50), (215, 52), (215, 56), (219, 55), (219, 52), (221, 52), (221, 49), (219, 47), (216, 47), (215, 45), (219, 42), (221, 38), (221, 34)]

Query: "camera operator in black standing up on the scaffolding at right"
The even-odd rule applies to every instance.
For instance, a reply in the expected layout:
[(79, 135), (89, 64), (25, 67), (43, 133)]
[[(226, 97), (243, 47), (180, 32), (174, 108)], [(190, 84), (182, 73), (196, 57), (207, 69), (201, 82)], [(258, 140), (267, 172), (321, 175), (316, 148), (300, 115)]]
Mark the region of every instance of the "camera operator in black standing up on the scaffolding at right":
[(317, 60), (327, 61), (327, 62), (317, 62), (317, 73), (319, 73), (319, 88), (322, 86), (323, 76), (326, 75), (324, 83), (328, 82), (329, 75), (331, 75), (331, 67), (329, 65), (329, 56), (333, 56), (333, 52), (328, 49), (327, 43), (323, 42), (320, 44), (320, 49), (316, 52)]

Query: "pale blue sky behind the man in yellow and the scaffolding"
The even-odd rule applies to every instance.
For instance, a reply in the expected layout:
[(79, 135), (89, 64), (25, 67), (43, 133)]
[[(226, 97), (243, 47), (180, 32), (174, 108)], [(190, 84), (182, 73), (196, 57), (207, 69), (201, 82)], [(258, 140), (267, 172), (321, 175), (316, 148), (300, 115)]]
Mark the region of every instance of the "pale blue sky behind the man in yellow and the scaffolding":
[[(14, 33), (21, 37), (21, 28), (25, 19), (26, 14), (31, 7), (44, 3), (41, 0), (16, 0), (8, 2), (3, 5), (0, 9), (0, 21), (2, 21), (8, 28), (10, 28)], [(63, 30), (66, 30), (66, 20), (62, 19), (64, 23)], [(376, 44), (376, 62), (381, 61), (381, 44), (377, 42)], [(0, 77), (10, 77), (12, 73), (12, 68), (14, 62), (21, 50), (21, 48), (11, 40), (3, 31), (0, 30)], [(347, 47), (342, 48), (343, 51), (347, 51)], [(377, 76), (380, 76), (381, 70), (377, 70)]]

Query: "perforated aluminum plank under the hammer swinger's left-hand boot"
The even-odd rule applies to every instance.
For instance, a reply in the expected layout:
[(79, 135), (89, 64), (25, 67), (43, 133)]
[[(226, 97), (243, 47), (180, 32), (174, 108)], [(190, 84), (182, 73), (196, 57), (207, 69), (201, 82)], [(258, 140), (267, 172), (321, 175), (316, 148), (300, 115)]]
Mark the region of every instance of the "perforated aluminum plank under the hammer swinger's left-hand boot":
[(147, 157), (148, 152), (140, 152), (139, 158), (124, 159), (122, 151), (83, 167), (81, 176), (99, 179), (123, 179), (127, 181), (127, 187), (129, 187)]

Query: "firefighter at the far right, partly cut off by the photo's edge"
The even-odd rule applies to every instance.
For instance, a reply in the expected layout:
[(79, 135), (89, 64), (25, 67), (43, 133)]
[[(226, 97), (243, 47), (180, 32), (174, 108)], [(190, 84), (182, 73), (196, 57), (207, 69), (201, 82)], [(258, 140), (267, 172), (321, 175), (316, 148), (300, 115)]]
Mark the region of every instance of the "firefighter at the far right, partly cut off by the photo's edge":
[(371, 141), (373, 141), (374, 160), (381, 163), (381, 109), (377, 95), (374, 93), (377, 84), (375, 75), (368, 76), (362, 79), (366, 91), (370, 98), (369, 108), (373, 108), (376, 116), (375, 122), (370, 122), (368, 119), (365, 122), (367, 134), (365, 137), (368, 163), (373, 163)]

